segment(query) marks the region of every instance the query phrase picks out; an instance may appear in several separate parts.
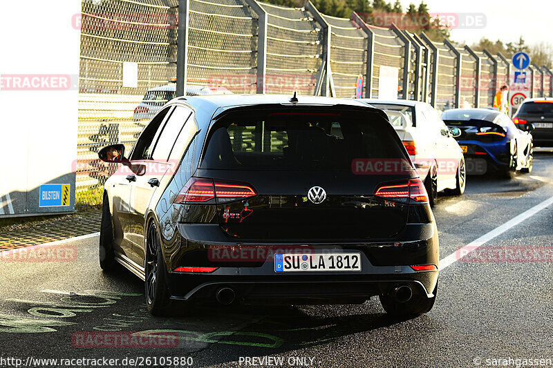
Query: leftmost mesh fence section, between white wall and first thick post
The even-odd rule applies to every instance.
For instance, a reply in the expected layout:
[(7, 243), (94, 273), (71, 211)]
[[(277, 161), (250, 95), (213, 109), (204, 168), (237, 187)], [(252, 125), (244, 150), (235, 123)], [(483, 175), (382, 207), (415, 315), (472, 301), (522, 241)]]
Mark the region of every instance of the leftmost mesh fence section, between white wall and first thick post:
[[(118, 142), (131, 148), (149, 110), (170, 98), (168, 88), (147, 92), (175, 76), (177, 6), (176, 0), (82, 1), (77, 206), (99, 204), (115, 170), (97, 159), (99, 148)], [(138, 75), (135, 86), (123, 83), (129, 65)]]

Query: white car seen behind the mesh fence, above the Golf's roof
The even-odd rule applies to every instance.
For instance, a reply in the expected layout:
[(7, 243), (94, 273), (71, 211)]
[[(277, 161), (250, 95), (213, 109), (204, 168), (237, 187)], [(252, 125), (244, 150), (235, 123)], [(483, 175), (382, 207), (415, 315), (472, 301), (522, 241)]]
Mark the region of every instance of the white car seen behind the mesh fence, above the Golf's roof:
[[(133, 119), (152, 119), (158, 111), (161, 110), (167, 102), (175, 98), (177, 86), (176, 83), (169, 83), (165, 86), (157, 86), (147, 90), (146, 95), (140, 104), (134, 109)], [(218, 86), (199, 86), (196, 84), (187, 84), (187, 96), (207, 96), (207, 95), (232, 95), (232, 92), (225, 87)]]

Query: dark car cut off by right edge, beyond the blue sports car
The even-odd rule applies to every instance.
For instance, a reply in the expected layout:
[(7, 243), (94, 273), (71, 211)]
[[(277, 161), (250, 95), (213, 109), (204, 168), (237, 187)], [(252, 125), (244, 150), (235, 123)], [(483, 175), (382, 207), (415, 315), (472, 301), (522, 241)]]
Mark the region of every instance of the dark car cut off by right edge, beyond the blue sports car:
[(553, 99), (525, 99), (513, 117), (521, 130), (532, 132), (534, 146), (553, 147)]

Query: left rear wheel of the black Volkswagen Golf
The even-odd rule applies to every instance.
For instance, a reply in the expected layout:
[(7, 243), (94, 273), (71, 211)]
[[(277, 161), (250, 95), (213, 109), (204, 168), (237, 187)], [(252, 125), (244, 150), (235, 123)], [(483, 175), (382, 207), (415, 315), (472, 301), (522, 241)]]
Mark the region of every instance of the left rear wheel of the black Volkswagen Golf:
[(153, 316), (165, 316), (170, 304), (167, 269), (158, 227), (153, 222), (148, 227), (146, 248), (146, 280), (144, 281), (146, 306)]

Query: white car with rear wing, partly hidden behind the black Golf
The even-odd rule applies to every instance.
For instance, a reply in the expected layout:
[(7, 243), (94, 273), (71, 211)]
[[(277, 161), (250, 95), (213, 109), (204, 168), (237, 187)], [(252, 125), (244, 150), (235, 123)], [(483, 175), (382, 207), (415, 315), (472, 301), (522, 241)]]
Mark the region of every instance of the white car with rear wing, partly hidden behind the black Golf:
[(438, 192), (447, 189), (455, 195), (465, 192), (465, 158), (455, 139), (461, 133), (459, 129), (450, 130), (438, 111), (425, 102), (361, 101), (388, 115), (427, 188), (431, 205), (435, 204)]

